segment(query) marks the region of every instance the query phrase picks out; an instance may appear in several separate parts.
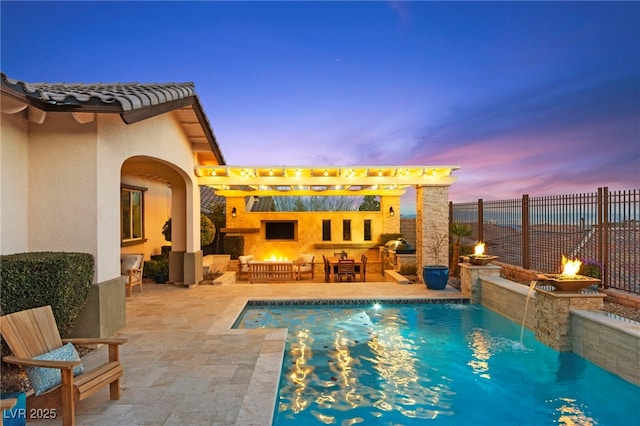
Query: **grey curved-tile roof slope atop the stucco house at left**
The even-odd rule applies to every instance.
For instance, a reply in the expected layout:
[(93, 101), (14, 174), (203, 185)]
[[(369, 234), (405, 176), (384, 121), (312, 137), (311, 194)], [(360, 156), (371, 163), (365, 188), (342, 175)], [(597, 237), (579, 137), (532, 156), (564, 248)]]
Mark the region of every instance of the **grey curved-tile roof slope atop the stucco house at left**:
[(193, 83), (26, 83), (1, 75), (3, 86), (57, 106), (119, 106), (126, 112), (196, 95)]

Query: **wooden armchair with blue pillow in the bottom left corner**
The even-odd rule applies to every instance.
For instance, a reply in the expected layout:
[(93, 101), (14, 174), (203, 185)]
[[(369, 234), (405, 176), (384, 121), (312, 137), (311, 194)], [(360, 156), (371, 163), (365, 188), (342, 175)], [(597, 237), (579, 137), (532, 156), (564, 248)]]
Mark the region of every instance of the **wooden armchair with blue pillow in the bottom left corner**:
[[(111, 399), (120, 399), (123, 369), (119, 345), (126, 339), (61, 339), (51, 306), (3, 315), (0, 333), (13, 353), (2, 360), (26, 367), (33, 387), (34, 394), (27, 398), (27, 413), (61, 408), (62, 424), (69, 426), (75, 424), (76, 401), (82, 401), (103, 386), (109, 385)], [(109, 345), (109, 360), (83, 372), (73, 344)]]

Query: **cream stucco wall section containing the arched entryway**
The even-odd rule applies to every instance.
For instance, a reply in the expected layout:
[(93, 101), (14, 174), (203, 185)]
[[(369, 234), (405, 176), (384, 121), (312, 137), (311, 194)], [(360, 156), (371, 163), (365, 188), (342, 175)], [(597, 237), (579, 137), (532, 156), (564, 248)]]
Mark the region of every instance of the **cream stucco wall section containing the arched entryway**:
[[(187, 228), (186, 241), (182, 244), (181, 250), (187, 252), (200, 250), (200, 231), (196, 229), (200, 224), (200, 192), (192, 172), (193, 155), (179, 123), (172, 118), (171, 114), (163, 114), (129, 125), (123, 123), (117, 116), (103, 116), (99, 119), (97, 136), (100, 158), (97, 173), (100, 194), (96, 201), (100, 210), (108, 211), (113, 206), (118, 206), (119, 211), (122, 166), (128, 159), (136, 158), (136, 164), (132, 167), (136, 170), (136, 175), (123, 171), (122, 183), (135, 185), (135, 182), (140, 182), (140, 186), (153, 189), (153, 192), (145, 194), (145, 202), (147, 198), (152, 202), (145, 206), (145, 219), (151, 216), (158, 217), (145, 222), (146, 233), (150, 235), (154, 232), (153, 228), (157, 223), (160, 221), (164, 223), (167, 218), (168, 200), (164, 202), (156, 200), (153, 203), (153, 200), (160, 195), (159, 187), (151, 182), (148, 185), (145, 184), (144, 179), (140, 180), (143, 174), (158, 175), (167, 179), (172, 192), (180, 192), (180, 198), (184, 199), (185, 204), (173, 203), (172, 211), (169, 212), (171, 216), (181, 216)], [(166, 183), (164, 185), (167, 186)], [(173, 210), (179, 210), (179, 212)], [(191, 220), (186, 220), (187, 218)], [(194, 226), (194, 221), (197, 227)], [(119, 214), (101, 215), (98, 218), (97, 228), (101, 230), (98, 237), (98, 251), (101, 252), (102, 258), (111, 257), (102, 265), (103, 270), (99, 279), (108, 279), (120, 274), (120, 233), (112, 231), (120, 229)], [(144, 245), (127, 246), (123, 251), (150, 255), (164, 244), (162, 240), (154, 237)]]

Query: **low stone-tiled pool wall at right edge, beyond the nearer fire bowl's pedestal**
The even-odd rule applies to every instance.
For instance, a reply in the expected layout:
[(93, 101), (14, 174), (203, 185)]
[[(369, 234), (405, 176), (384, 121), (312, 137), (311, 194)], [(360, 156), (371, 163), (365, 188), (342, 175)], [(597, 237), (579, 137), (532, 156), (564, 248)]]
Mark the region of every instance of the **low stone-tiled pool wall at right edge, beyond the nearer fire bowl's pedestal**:
[(640, 386), (640, 324), (572, 311), (571, 344), (577, 355)]

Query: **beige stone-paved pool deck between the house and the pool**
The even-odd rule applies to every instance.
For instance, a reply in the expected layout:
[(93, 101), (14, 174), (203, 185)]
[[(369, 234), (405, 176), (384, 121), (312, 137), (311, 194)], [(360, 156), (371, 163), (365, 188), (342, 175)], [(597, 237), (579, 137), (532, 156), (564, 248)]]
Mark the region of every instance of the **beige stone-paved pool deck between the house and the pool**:
[[(76, 406), (78, 425), (270, 425), (282, 365), (285, 329), (233, 330), (248, 300), (458, 299), (447, 287), (423, 284), (270, 283), (145, 284), (127, 298), (127, 325), (118, 337), (124, 365), (122, 396), (108, 387)], [(83, 357), (106, 359), (106, 347)], [(29, 424), (59, 425), (60, 420)]]

